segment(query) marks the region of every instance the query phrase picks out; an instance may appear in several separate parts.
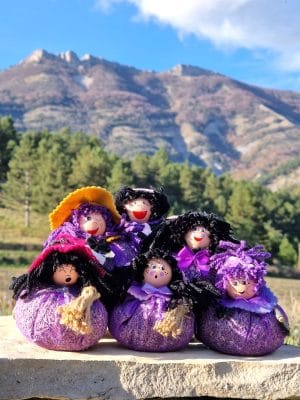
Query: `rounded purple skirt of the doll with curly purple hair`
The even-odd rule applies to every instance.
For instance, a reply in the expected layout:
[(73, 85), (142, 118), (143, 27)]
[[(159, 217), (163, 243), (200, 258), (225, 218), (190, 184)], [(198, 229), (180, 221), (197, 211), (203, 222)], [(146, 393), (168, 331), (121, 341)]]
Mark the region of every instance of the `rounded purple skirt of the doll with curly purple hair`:
[(272, 353), (286, 335), (274, 312), (258, 314), (232, 308), (219, 318), (211, 307), (196, 321), (197, 339), (213, 350), (233, 355)]

